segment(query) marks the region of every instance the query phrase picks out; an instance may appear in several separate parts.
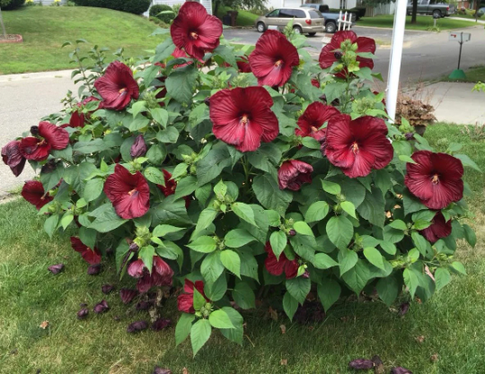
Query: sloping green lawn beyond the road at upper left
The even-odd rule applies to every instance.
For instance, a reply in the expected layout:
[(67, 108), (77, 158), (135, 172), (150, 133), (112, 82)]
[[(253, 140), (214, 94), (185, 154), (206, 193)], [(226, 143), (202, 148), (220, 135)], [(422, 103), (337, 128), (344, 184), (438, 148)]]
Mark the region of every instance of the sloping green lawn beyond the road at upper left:
[[(3, 12), (7, 33), (22, 34), (22, 44), (0, 44), (0, 74), (74, 68), (66, 40), (86, 39), (112, 52), (124, 47), (137, 57), (154, 49), (160, 36), (149, 38), (157, 26), (141, 16), (110, 9), (80, 6), (24, 6)], [(111, 54), (109, 52), (111, 58)], [(114, 57), (112, 57), (114, 59)]]

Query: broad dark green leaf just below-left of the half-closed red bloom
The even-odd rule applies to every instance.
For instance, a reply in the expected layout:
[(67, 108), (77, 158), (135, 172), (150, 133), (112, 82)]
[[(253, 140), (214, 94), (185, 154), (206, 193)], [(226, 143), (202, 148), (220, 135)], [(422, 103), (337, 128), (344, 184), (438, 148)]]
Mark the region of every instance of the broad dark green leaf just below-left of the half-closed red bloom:
[(269, 174), (255, 177), (252, 181), (252, 189), (261, 205), (266, 209), (277, 211), (281, 216), (285, 215), (288, 205), (293, 200), (293, 195), (279, 189), (278, 180)]

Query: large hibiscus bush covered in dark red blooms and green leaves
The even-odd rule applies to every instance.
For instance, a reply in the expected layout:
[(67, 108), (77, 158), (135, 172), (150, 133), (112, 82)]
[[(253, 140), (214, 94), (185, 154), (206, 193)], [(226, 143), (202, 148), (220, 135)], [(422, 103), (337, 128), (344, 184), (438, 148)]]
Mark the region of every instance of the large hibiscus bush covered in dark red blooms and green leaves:
[(465, 274), (463, 165), (477, 167), (392, 125), (375, 41), (337, 32), (315, 63), (291, 28), (251, 54), (222, 30), (188, 2), (154, 56), (106, 65), (96, 49), (79, 99), (4, 146), (16, 176), (38, 171), (22, 196), (48, 235), (75, 230), (90, 265), (114, 251), (137, 279), (123, 302), (178, 290), (176, 341), (190, 335), (194, 354), (213, 329), (242, 344), (257, 298), (292, 319), (309, 295), (325, 311), (352, 292), (390, 306)]

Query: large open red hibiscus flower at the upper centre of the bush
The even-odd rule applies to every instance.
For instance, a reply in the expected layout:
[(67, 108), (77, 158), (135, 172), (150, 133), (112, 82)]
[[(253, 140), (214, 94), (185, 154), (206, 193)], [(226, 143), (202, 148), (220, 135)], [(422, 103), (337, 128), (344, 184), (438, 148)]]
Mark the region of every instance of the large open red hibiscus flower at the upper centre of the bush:
[(279, 134), (273, 100), (262, 87), (221, 90), (210, 98), (209, 116), (217, 139), (241, 152), (256, 151)]

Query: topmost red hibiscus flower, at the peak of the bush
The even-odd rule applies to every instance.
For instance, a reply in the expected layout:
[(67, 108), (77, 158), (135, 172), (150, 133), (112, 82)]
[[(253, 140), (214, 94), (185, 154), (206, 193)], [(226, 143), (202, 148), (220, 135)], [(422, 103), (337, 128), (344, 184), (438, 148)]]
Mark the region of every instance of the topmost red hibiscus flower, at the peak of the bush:
[(222, 30), (222, 22), (196, 2), (184, 3), (170, 27), (173, 44), (200, 62), (207, 51), (217, 48)]

